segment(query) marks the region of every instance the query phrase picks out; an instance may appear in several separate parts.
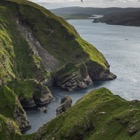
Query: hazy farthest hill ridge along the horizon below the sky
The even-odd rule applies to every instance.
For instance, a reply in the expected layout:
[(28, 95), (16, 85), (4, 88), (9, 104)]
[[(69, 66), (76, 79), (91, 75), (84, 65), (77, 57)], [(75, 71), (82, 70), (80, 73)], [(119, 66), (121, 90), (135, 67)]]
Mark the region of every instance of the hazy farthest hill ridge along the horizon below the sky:
[(139, 8), (117, 8), (117, 7), (110, 7), (110, 8), (93, 8), (93, 7), (65, 7), (65, 8), (58, 8), (52, 9), (51, 11), (58, 16), (62, 16), (64, 18), (67, 17), (74, 17), (74, 15), (87, 15), (87, 17), (92, 15), (110, 15), (110, 14), (121, 14), (124, 12), (135, 12), (139, 10)]

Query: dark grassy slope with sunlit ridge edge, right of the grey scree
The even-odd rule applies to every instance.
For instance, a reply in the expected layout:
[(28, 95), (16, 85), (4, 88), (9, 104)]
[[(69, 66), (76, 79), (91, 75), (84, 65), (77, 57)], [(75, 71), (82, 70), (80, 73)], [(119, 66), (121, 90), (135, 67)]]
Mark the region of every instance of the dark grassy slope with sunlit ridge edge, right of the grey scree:
[(18, 18), (22, 24), (32, 29), (33, 35), (42, 47), (46, 48), (61, 64), (67, 61), (92, 59), (107, 68), (103, 55), (91, 44), (82, 40), (76, 30), (62, 18), (24, 0), (11, 0), (11, 2), (18, 3)]

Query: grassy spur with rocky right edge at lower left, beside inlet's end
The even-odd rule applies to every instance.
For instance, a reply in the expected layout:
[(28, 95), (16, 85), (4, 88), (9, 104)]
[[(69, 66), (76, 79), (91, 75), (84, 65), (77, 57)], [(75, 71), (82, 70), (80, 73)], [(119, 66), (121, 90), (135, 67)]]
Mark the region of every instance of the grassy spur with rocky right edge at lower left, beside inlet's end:
[(26, 112), (14, 92), (6, 86), (0, 87), (0, 99), (0, 114), (13, 119), (22, 132), (30, 129)]

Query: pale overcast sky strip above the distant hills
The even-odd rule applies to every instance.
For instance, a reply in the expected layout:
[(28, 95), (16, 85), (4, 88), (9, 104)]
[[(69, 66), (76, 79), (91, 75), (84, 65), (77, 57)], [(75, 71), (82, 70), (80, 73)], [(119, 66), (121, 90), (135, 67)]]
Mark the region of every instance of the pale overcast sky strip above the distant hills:
[(30, 0), (48, 9), (82, 6), (82, 7), (140, 7), (140, 0)]

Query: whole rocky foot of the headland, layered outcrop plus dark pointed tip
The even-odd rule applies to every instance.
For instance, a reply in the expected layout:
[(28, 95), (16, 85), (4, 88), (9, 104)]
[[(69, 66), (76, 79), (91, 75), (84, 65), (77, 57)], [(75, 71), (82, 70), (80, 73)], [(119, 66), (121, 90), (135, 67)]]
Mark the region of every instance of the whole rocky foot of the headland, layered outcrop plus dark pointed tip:
[(72, 91), (89, 87), (95, 81), (113, 80), (116, 78), (117, 76), (111, 73), (109, 69), (105, 70), (98, 63), (88, 61), (80, 65), (74, 63), (66, 64), (55, 75), (55, 82), (57, 86)]

